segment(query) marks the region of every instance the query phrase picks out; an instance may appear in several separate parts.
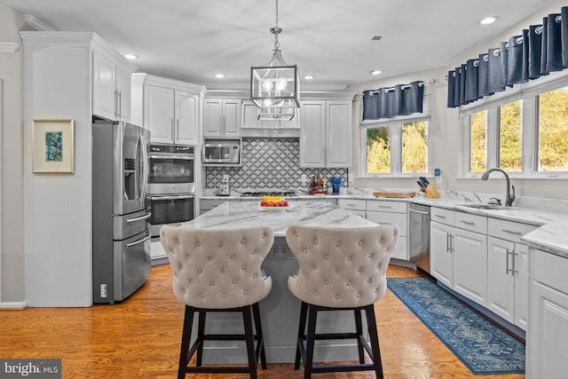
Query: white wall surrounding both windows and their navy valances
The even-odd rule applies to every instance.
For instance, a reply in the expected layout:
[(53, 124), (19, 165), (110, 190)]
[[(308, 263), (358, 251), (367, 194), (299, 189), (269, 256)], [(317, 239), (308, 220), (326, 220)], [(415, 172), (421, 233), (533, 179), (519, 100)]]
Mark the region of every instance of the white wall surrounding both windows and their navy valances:
[[(429, 81), (435, 79), (436, 83), (428, 84), (424, 88), (424, 93), (431, 96), (431, 122), (430, 138), (431, 168), (442, 170), (444, 182), (436, 184), (440, 189), (469, 191), (478, 193), (505, 193), (504, 180), (481, 181), (478, 178), (462, 178), (461, 167), (463, 164), (463, 130), (459, 121), (458, 110), (446, 107), (447, 83), (445, 76), (449, 70), (460, 66), (467, 59), (477, 57), (480, 53), (490, 48), (499, 46), (501, 41), (509, 39), (509, 36), (521, 34), (523, 28), (529, 25), (540, 24), (542, 18), (548, 13), (558, 13), (566, 4), (557, 1), (555, 4), (548, 5), (542, 10), (535, 12), (533, 16), (521, 20), (514, 28), (509, 28), (491, 41), (479, 43), (474, 49), (458, 54), (453, 62), (448, 62), (444, 67), (429, 71), (422, 71), (409, 75), (400, 75), (384, 80), (361, 83), (347, 88), (348, 91), (362, 93), (366, 90), (373, 90), (380, 87), (389, 87), (395, 84), (410, 83), (414, 80)], [(537, 79), (538, 81), (538, 79)], [(359, 146), (359, 107), (354, 107), (353, 112), (353, 141), (354, 141), (354, 167), (350, 170), (355, 177), (359, 172), (359, 154), (364, 151), (365, 146)], [(418, 190), (415, 178), (355, 178), (350, 186), (370, 187), (370, 188), (414, 188)], [(543, 197), (552, 199), (568, 199), (568, 180), (565, 179), (512, 179), (515, 185), (517, 196)]]

